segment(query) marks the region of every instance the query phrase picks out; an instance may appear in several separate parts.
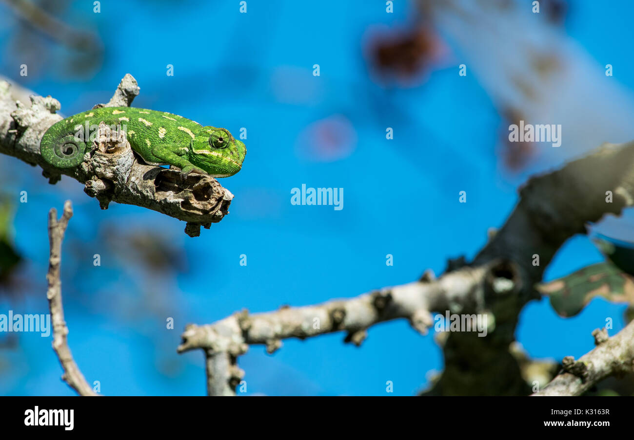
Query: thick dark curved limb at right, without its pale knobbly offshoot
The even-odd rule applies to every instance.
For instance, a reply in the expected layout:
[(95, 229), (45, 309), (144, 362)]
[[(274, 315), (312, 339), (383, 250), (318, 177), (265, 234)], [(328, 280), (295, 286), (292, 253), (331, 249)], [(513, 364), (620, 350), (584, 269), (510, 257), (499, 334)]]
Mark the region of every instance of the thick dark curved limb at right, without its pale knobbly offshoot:
[[(612, 199), (607, 199), (607, 191)], [(517, 267), (520, 287), (510, 295), (486, 298), (495, 317), (495, 330), (487, 337), (472, 332), (449, 334), (443, 345), (445, 368), (426, 394), (531, 393), (522, 379), (521, 365), (509, 353), (519, 314), (528, 301), (540, 298), (535, 286), (567, 239), (585, 234), (587, 223), (598, 222), (607, 213), (619, 215), (632, 206), (634, 142), (602, 144), (559, 170), (532, 177), (519, 193), (510, 217), (470, 265), (492, 258), (509, 261)]]

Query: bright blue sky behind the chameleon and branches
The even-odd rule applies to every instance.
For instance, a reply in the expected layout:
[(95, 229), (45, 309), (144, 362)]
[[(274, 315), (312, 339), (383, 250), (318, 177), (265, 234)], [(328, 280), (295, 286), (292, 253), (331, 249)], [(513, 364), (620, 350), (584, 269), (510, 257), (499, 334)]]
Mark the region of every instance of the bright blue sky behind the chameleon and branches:
[[(19, 76), (18, 54), (6, 49), (0, 73), (61, 103), (72, 115), (107, 102), (131, 73), (141, 94), (134, 106), (170, 111), (234, 134), (247, 128), (243, 169), (221, 183), (235, 195), (230, 215), (197, 238), (184, 223), (135, 206), (101, 211), (82, 185), (67, 177), (48, 185), (40, 172), (0, 157), (2, 191), (17, 203), (16, 248), (27, 259), (27, 294), (0, 297), (0, 313), (46, 313), (48, 258), (46, 213), (65, 199), (75, 217), (62, 263), (70, 347), (89, 382), (109, 395), (204, 394), (200, 352), (176, 354), (184, 325), (205, 324), (247, 308), (320, 303), (417, 279), (426, 269), (442, 273), (448, 258), (472, 258), (489, 227), (500, 227), (517, 201), (521, 181), (500, 169), (496, 156), (501, 118), (473, 76), (460, 79), (455, 65), (434, 70), (417, 87), (384, 87), (368, 73), (363, 41), (369, 27), (402, 26), (411, 4), (350, 1), (167, 1), (74, 3), (60, 18), (93, 29), (105, 46), (88, 73), (68, 75), (55, 62), (65, 49), (49, 45), (46, 68)], [(6, 6), (0, 6), (0, 13)], [(566, 32), (599, 64), (632, 72), (628, 1), (597, 5), (571, 2)], [(113, 25), (112, 22), (117, 22)], [(11, 24), (13, 23), (13, 24)], [(15, 35), (15, 22), (0, 27), (0, 49)], [(609, 27), (606, 28), (606, 23)], [(3, 49), (4, 50), (4, 49)], [(313, 76), (313, 65), (320, 76)], [(174, 66), (174, 76), (165, 74)], [(621, 75), (628, 91), (634, 78)], [(333, 155), (315, 140), (320, 127), (339, 127)], [(385, 127), (394, 139), (385, 139)], [(325, 156), (324, 156), (325, 154)], [(293, 187), (344, 188), (344, 209), (293, 206)], [(458, 203), (467, 191), (468, 203)], [(186, 270), (157, 284), (141, 263), (117, 260), (100, 229), (151, 229), (183, 249)], [(115, 232), (116, 233), (116, 232)], [(69, 251), (72, 242), (72, 251)], [(102, 255), (102, 267), (93, 255)], [(247, 255), (247, 266), (239, 265)], [(385, 265), (385, 255), (394, 266)], [(548, 268), (547, 279), (602, 260), (592, 242), (574, 237)], [(159, 287), (157, 287), (159, 286)], [(153, 289), (162, 293), (153, 296)], [(578, 316), (562, 319), (548, 301), (526, 306), (517, 339), (531, 356), (579, 356), (592, 349), (590, 332), (614, 318), (623, 327), (624, 305), (595, 299)], [(175, 329), (165, 329), (165, 316)], [(0, 338), (3, 336), (0, 336)], [(267, 355), (253, 346), (240, 358), (247, 394), (411, 395), (441, 370), (442, 353), (403, 320), (372, 327), (360, 347), (344, 334), (283, 341)], [(0, 394), (72, 394), (60, 380), (51, 341), (20, 334), (17, 348), (2, 349)]]

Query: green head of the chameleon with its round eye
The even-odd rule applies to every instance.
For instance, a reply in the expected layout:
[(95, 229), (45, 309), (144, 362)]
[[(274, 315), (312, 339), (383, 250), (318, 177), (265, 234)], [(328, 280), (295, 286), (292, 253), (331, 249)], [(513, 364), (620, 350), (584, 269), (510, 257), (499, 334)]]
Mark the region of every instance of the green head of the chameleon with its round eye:
[(212, 177), (228, 177), (240, 171), (247, 154), (244, 142), (234, 139), (229, 130), (216, 127), (203, 127), (201, 133), (205, 135), (196, 136), (191, 143), (193, 165)]

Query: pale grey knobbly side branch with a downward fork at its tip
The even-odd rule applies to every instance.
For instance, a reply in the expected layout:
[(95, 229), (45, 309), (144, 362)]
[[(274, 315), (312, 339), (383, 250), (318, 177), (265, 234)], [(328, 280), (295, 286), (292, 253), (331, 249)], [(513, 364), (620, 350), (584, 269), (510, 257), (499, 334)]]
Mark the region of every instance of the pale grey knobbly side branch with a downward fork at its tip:
[(214, 324), (188, 325), (178, 352), (204, 349), (209, 395), (234, 395), (235, 386), (243, 377), (236, 360), (247, 352), (250, 344), (264, 344), (271, 354), (281, 347), (281, 339), (306, 339), (345, 331), (344, 341), (359, 346), (368, 327), (397, 318), (406, 318), (415, 330), (427, 334), (434, 324), (430, 311), (462, 305), (473, 308), (482, 300), (484, 291), (497, 289), (498, 294), (512, 291), (512, 281), (503, 284), (493, 277), (499, 268), (500, 263), (493, 261), (481, 267), (464, 267), (446, 273), (438, 280), (426, 272), (416, 282), (387, 287), (356, 298), (297, 308), (286, 306), (254, 315), (245, 310)]

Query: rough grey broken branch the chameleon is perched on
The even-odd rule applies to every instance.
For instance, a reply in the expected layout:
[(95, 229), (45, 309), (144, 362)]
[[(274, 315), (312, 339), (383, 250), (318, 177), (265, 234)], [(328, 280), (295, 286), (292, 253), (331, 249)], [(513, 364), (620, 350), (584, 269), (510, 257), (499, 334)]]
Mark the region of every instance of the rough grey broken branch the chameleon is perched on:
[[(129, 106), (138, 93), (138, 84), (128, 73), (112, 99), (95, 107)], [(10, 84), (0, 82), (0, 153), (38, 165), (52, 184), (61, 174), (68, 175), (84, 184), (86, 194), (96, 198), (102, 209), (111, 201), (143, 206), (187, 222), (185, 232), (191, 237), (200, 235), (201, 226), (209, 229), (229, 213), (233, 194), (216, 179), (146, 165), (125, 142), (105, 146), (98, 137), (79, 167), (53, 167), (40, 155), (39, 143), (44, 132), (61, 119), (56, 114), (60, 103), (50, 96), (31, 96), (30, 101), (30, 105), (14, 101)]]

